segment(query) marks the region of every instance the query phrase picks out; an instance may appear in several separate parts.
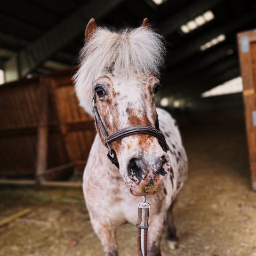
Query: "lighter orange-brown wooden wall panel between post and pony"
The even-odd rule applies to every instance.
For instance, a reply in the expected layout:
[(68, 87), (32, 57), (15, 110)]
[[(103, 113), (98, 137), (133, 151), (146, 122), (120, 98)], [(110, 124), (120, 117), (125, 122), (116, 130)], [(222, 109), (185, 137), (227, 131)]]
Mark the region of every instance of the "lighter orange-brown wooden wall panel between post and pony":
[(79, 106), (70, 69), (49, 76), (51, 100), (58, 113), (60, 130), (69, 158), (83, 172), (95, 137), (94, 119)]

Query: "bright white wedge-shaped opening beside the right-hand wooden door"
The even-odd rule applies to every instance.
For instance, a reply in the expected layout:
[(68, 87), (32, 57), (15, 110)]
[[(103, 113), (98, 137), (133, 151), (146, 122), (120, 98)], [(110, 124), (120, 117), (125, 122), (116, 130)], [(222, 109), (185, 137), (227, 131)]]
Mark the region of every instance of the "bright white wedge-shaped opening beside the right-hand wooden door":
[(234, 79), (229, 80), (226, 83), (218, 85), (217, 87), (214, 87), (213, 89), (202, 93), (201, 97), (206, 98), (206, 97), (212, 97), (212, 96), (218, 96), (218, 95), (238, 93), (242, 91), (243, 91), (242, 77), (238, 76)]

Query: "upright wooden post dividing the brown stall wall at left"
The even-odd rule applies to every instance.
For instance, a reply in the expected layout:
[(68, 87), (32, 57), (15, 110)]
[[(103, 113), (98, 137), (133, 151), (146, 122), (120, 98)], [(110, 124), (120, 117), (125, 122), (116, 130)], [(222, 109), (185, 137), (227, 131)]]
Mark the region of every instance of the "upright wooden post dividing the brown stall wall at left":
[(48, 132), (49, 132), (49, 91), (48, 79), (42, 76), (39, 81), (40, 86), (40, 109), (37, 128), (37, 159), (36, 159), (36, 182), (43, 182), (43, 172), (47, 169), (47, 148), (48, 148)]

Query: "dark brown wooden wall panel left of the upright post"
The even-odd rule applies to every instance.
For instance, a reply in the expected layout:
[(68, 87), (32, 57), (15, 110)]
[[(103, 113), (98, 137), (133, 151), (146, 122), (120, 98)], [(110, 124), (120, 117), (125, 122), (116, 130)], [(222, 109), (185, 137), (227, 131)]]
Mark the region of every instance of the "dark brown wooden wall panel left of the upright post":
[(0, 86), (2, 176), (34, 175), (39, 113), (38, 83), (39, 78), (33, 78)]

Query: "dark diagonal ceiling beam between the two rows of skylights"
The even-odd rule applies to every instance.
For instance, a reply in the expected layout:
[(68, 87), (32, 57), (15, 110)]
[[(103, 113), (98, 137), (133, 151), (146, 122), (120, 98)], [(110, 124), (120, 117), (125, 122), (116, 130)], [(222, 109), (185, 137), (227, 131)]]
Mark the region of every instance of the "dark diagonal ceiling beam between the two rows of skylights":
[(205, 33), (194, 40), (177, 47), (176, 49), (170, 51), (166, 56), (166, 67), (173, 66), (178, 62), (188, 58), (190, 55), (199, 51), (199, 47), (211, 39), (217, 37), (220, 34), (229, 34), (237, 29), (243, 27), (246, 23), (256, 19), (256, 11), (251, 11), (244, 13), (233, 20), (229, 20), (223, 23), (220, 27), (217, 27), (208, 33)]

